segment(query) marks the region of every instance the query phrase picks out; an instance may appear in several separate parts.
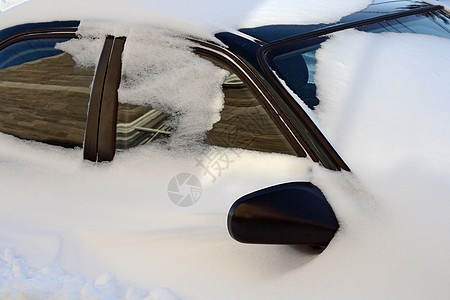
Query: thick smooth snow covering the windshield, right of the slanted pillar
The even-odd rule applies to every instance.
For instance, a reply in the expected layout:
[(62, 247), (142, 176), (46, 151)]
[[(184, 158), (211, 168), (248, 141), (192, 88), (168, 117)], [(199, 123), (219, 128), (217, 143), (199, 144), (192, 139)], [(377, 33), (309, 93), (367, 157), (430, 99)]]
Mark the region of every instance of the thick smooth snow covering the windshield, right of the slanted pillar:
[(449, 166), (449, 48), (446, 38), (356, 30), (321, 45), (319, 123), (354, 172)]

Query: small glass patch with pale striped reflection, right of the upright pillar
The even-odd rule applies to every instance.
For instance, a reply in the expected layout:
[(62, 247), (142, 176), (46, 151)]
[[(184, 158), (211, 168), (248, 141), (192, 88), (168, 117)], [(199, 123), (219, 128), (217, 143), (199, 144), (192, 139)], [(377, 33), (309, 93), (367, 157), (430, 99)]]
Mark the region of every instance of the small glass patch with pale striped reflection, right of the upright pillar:
[(167, 139), (172, 128), (167, 125), (169, 115), (150, 106), (119, 103), (117, 111), (116, 150)]

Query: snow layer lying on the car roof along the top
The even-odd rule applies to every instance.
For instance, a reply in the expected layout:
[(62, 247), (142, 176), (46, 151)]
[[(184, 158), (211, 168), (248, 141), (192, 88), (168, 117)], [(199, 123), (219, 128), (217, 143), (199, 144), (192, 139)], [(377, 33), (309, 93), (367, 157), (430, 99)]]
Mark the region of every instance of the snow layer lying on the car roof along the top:
[[(193, 35), (268, 24), (336, 22), (371, 0), (29, 0), (0, 18), (0, 28), (48, 20), (109, 20), (176, 29)], [(64, 9), (60, 9), (64, 7)]]

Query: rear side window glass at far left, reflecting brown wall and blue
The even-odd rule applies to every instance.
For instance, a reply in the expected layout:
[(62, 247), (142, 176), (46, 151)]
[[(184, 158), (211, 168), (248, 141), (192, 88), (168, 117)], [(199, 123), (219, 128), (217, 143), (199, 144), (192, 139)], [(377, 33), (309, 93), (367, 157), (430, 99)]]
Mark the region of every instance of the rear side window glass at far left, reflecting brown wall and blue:
[(25, 40), (0, 50), (0, 131), (64, 147), (83, 145), (94, 68), (55, 49), (68, 39)]

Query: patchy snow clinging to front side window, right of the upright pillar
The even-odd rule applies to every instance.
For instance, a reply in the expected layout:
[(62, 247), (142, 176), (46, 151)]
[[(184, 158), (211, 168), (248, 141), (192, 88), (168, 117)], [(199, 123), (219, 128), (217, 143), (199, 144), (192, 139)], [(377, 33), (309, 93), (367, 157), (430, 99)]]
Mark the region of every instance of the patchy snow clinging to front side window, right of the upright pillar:
[(192, 46), (170, 32), (141, 28), (130, 32), (124, 50), (119, 101), (177, 116), (171, 146), (204, 138), (223, 108), (229, 73), (193, 54)]

